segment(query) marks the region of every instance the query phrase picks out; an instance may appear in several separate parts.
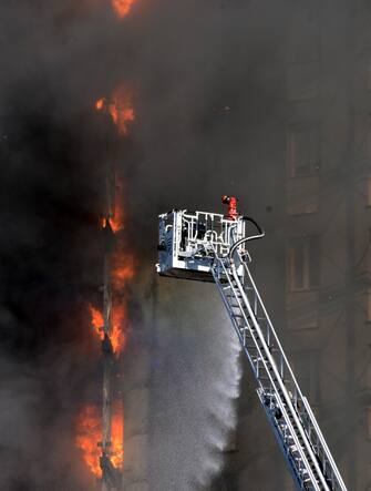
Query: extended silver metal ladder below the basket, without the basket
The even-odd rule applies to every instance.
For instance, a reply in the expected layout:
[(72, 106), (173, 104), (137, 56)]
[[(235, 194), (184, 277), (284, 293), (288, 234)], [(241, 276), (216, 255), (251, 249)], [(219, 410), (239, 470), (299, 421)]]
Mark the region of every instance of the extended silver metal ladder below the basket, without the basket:
[(258, 382), (257, 393), (299, 490), (347, 491), (307, 398), (285, 356), (249, 268), (214, 255), (213, 276)]

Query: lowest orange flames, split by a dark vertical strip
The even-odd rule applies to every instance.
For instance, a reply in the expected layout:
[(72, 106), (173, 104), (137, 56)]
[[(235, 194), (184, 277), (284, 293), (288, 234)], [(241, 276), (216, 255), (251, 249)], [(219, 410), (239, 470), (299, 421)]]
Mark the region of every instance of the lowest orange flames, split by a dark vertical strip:
[[(124, 415), (123, 405), (116, 401), (113, 406), (111, 427), (111, 462), (116, 469), (122, 468), (124, 461)], [(100, 458), (102, 440), (101, 411), (96, 406), (83, 407), (76, 418), (76, 447), (81, 450), (83, 460), (89, 470), (97, 478), (102, 477)]]

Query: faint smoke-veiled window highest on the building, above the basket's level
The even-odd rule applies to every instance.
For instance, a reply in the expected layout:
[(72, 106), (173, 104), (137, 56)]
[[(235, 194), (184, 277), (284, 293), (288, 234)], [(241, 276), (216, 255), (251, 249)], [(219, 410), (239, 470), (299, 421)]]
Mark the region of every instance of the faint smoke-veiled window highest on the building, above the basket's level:
[(313, 175), (319, 170), (319, 131), (313, 124), (289, 126), (288, 162), (290, 177)]

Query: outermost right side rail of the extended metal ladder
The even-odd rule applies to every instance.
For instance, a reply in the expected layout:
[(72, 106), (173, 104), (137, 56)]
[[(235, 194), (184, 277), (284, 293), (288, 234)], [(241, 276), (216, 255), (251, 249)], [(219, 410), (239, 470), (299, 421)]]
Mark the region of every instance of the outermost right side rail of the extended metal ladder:
[[(258, 289), (257, 289), (257, 287), (255, 285), (255, 282), (253, 279), (251, 273), (250, 273), (249, 268), (247, 267), (246, 263), (244, 263), (244, 268), (245, 268), (245, 273), (247, 273), (247, 275), (248, 275), (248, 279), (249, 279), (249, 282), (250, 282), (250, 284), (251, 284), (251, 286), (253, 286), (253, 288), (255, 290), (255, 294), (256, 294), (256, 296), (258, 298), (260, 308), (262, 309), (264, 315), (267, 318), (267, 321), (268, 321), (268, 325), (269, 325), (269, 328), (270, 328), (270, 333), (271, 333), (271, 335), (275, 338), (275, 341), (277, 344), (278, 349), (280, 350), (280, 355), (282, 356), (282, 360), (284, 360), (284, 364), (285, 364), (286, 372), (289, 375), (289, 377), (291, 379), (291, 383), (295, 387), (295, 392), (296, 393), (293, 395), (293, 397), (296, 399), (296, 402), (297, 401), (301, 402), (301, 409), (302, 409), (301, 413), (305, 417), (307, 416), (308, 420), (305, 421), (305, 423), (310, 423), (311, 428), (308, 428), (308, 431), (307, 431), (308, 438), (309, 438), (309, 440), (311, 441), (312, 444), (318, 446), (318, 443), (320, 443), (321, 450), (322, 450), (322, 454), (326, 458), (326, 459), (324, 458), (322, 459), (323, 460), (323, 467), (326, 467), (326, 460), (327, 460), (329, 466), (330, 466), (330, 468), (331, 468), (332, 479), (336, 478), (336, 481), (337, 481), (336, 483), (338, 484), (340, 490), (347, 491), (347, 488), (346, 488), (346, 485), (343, 483), (343, 480), (342, 480), (342, 478), (340, 475), (338, 467), (337, 467), (337, 464), (336, 464), (336, 462), (333, 460), (331, 451), (330, 451), (329, 447), (326, 443), (323, 434), (322, 434), (322, 432), (321, 432), (321, 430), (319, 428), (319, 424), (318, 424), (318, 422), (316, 420), (316, 417), (315, 417), (315, 415), (313, 415), (313, 412), (312, 412), (312, 410), (310, 408), (310, 405), (309, 405), (307, 398), (302, 395), (302, 392), (300, 390), (300, 387), (299, 387), (299, 385), (297, 382), (297, 379), (296, 379), (296, 377), (295, 377), (295, 375), (292, 372), (292, 369), (291, 369), (291, 367), (289, 365), (289, 361), (288, 361), (288, 359), (287, 359), (287, 357), (285, 355), (284, 348), (282, 348), (282, 346), (281, 346), (281, 344), (280, 344), (280, 341), (279, 341), (279, 339), (277, 337), (276, 330), (275, 330), (275, 328), (274, 328), (274, 326), (271, 324), (271, 320), (270, 320), (270, 318), (269, 318), (269, 316), (267, 314), (267, 310), (266, 310), (266, 308), (265, 308), (265, 306), (262, 304), (262, 300), (261, 300), (261, 297), (259, 295), (259, 291), (258, 291)], [(310, 408), (309, 411), (308, 411), (308, 408)], [(310, 430), (313, 430), (313, 431), (310, 431)], [(312, 432), (316, 434), (317, 441), (313, 440)], [(318, 456), (318, 457), (320, 458), (320, 456)]]

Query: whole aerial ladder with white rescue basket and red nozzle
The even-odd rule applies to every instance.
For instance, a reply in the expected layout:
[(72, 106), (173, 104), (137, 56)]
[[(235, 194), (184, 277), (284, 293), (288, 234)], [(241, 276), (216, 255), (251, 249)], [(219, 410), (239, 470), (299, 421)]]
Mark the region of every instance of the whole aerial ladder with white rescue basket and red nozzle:
[[(186, 209), (159, 215), (161, 276), (214, 282), (257, 382), (257, 395), (298, 490), (347, 491), (254, 283), (247, 245), (264, 237), (224, 196), (227, 215)], [(256, 232), (248, 235), (248, 228)]]

